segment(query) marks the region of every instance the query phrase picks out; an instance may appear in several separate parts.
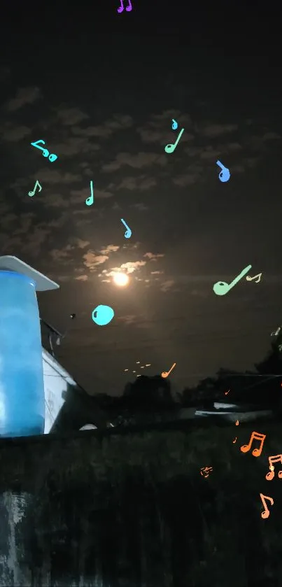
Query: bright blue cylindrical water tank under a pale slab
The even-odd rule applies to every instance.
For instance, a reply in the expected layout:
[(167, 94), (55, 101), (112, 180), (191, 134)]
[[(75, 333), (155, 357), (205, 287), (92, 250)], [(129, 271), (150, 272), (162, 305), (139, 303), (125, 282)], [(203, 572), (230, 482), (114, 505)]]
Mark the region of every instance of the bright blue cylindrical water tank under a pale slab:
[(0, 436), (43, 434), (44, 422), (36, 283), (0, 270)]

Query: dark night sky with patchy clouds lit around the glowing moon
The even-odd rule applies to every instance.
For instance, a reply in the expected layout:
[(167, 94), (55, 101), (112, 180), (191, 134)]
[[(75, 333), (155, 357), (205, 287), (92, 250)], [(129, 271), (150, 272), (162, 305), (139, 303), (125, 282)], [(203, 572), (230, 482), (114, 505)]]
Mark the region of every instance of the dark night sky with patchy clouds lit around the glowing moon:
[[(251, 369), (282, 322), (275, 12), (3, 4), (0, 250), (60, 285), (38, 294), (41, 317), (70, 327), (59, 362), (112, 395), (174, 362), (178, 390), (220, 367)], [(215, 295), (248, 264), (260, 283)], [(92, 321), (98, 304), (115, 312), (107, 326)]]

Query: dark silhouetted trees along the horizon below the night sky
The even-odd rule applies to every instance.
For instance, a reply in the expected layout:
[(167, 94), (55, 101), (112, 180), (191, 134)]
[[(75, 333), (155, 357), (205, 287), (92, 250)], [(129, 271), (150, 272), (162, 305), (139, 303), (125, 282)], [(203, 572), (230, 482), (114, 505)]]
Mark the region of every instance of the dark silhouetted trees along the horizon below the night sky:
[[(181, 408), (197, 406), (210, 409), (215, 401), (265, 407), (279, 413), (282, 394), (281, 343), (282, 334), (278, 329), (272, 339), (271, 350), (255, 364), (253, 371), (239, 373), (222, 368), (215, 377), (199, 381), (195, 388), (185, 388), (176, 397), (171, 394), (169, 379), (156, 375), (139, 376), (134, 383), (127, 383), (119, 397), (98, 393), (95, 400), (115, 425), (151, 423), (167, 420), (169, 415), (174, 419)], [(225, 396), (228, 390), (230, 392)]]

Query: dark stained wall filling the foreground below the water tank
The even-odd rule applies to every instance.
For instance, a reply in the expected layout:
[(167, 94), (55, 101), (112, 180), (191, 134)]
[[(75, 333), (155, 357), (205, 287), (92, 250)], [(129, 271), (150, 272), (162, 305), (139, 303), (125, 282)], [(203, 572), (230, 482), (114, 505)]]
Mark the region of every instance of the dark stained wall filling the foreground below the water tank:
[[(240, 451), (253, 430), (258, 458)], [(265, 479), (281, 436), (194, 421), (2, 439), (0, 586), (282, 586), (282, 479)]]

